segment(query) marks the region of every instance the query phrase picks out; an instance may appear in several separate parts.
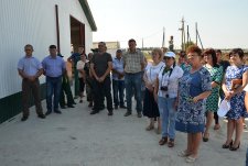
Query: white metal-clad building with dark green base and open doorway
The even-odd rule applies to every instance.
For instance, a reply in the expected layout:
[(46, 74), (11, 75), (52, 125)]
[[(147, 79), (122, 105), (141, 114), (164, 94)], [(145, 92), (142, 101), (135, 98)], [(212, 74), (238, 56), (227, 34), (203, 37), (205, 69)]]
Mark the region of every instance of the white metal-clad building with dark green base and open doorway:
[[(97, 27), (87, 0), (1, 0), (0, 15), (1, 123), (22, 109), (17, 65), (24, 56), (24, 45), (32, 44), (34, 56), (42, 60), (48, 55), (48, 45), (55, 44), (66, 58), (71, 44), (90, 52)], [(40, 81), (44, 97), (44, 76)]]

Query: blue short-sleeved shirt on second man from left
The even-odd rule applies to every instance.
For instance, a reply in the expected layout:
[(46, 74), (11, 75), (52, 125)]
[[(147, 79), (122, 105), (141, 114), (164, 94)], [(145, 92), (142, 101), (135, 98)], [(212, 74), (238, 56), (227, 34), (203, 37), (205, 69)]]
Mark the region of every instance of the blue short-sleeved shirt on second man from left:
[(42, 66), (45, 70), (45, 75), (48, 77), (60, 77), (66, 69), (65, 62), (60, 56), (56, 56), (55, 58), (53, 58), (51, 55), (46, 56), (42, 60)]

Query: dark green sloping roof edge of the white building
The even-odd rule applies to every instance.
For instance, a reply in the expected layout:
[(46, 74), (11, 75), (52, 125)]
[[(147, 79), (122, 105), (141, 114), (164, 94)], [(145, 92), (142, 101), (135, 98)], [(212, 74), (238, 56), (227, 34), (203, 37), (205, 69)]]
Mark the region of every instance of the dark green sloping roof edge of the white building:
[(89, 25), (90, 25), (91, 30), (96, 32), (97, 31), (97, 26), (96, 26), (96, 23), (95, 23), (95, 20), (93, 18), (93, 13), (90, 11), (90, 8), (88, 5), (87, 0), (79, 0), (79, 2), (80, 2), (80, 5), (82, 5), (82, 8), (83, 8), (83, 10), (85, 12), (85, 15), (86, 15), (88, 22), (89, 22)]

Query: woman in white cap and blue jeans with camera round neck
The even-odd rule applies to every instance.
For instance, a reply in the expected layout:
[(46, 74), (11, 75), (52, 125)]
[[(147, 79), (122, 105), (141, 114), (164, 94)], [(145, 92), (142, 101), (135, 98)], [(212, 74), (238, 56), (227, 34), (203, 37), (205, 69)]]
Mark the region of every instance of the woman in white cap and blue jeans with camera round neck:
[(162, 119), (162, 139), (159, 144), (168, 143), (169, 147), (174, 146), (175, 139), (175, 111), (179, 90), (179, 80), (183, 76), (183, 69), (175, 65), (175, 54), (164, 54), (165, 66), (160, 70), (154, 97), (158, 98), (159, 111)]

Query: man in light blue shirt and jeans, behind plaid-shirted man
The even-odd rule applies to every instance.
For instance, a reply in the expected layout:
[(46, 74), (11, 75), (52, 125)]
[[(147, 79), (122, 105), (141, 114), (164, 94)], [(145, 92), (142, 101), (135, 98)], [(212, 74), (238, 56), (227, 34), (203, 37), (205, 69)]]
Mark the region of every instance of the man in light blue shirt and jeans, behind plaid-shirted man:
[(118, 109), (118, 107), (126, 109), (123, 102), (125, 71), (123, 59), (121, 56), (122, 51), (117, 49), (116, 57), (112, 60), (112, 90), (115, 109)]

